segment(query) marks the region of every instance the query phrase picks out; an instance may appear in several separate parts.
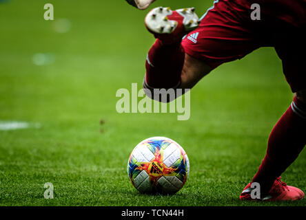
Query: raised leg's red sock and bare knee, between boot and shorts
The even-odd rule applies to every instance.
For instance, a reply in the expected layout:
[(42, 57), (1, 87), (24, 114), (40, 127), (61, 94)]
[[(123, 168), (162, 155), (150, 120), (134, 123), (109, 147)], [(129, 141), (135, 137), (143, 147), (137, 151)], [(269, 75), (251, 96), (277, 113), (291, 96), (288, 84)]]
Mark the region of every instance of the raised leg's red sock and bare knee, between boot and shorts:
[(181, 41), (163, 45), (157, 40), (147, 55), (146, 69), (146, 89), (192, 89), (212, 67), (185, 54)]

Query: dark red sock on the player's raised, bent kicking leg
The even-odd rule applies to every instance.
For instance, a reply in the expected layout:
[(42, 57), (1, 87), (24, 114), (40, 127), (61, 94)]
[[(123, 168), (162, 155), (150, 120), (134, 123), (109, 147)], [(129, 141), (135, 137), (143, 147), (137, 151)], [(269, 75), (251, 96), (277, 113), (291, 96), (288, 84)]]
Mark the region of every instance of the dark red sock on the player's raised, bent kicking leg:
[(166, 45), (157, 39), (147, 54), (145, 63), (147, 72), (143, 88), (176, 89), (179, 87), (184, 59), (185, 51), (181, 46), (181, 41)]

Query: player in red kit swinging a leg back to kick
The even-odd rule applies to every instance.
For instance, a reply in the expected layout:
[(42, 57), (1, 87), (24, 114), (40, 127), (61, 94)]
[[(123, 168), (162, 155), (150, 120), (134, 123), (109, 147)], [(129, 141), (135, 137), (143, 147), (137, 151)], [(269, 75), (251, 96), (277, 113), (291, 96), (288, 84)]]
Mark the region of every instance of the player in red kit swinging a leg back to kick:
[[(145, 9), (153, 1), (131, 2)], [(252, 19), (253, 3), (260, 5), (260, 18)], [(306, 0), (215, 0), (200, 21), (194, 8), (155, 8), (147, 14), (145, 25), (157, 40), (147, 55), (143, 87), (191, 89), (219, 65), (274, 47), (294, 100), (274, 126), (252, 182), (261, 185), (261, 200), (303, 199), (302, 190), (279, 176), (306, 144)], [(242, 200), (252, 200), (252, 182)]]

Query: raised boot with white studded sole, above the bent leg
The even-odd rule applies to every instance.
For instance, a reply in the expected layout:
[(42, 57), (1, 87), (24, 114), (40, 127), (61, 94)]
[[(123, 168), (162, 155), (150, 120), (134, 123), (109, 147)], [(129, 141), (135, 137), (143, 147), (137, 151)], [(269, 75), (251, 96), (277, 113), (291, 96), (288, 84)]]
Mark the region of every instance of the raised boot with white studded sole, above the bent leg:
[(200, 21), (194, 8), (172, 11), (170, 8), (154, 8), (145, 17), (147, 30), (165, 44), (181, 41), (183, 36), (196, 29)]

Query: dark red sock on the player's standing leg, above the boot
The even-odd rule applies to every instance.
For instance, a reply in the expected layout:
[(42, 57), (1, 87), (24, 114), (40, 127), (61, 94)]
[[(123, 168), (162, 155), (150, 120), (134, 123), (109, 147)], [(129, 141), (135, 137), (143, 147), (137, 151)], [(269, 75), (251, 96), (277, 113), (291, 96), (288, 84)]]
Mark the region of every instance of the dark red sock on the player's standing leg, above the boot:
[(306, 145), (306, 104), (294, 101), (269, 136), (267, 154), (253, 182), (261, 184), (261, 191), (269, 192), (274, 180), (298, 157)]

